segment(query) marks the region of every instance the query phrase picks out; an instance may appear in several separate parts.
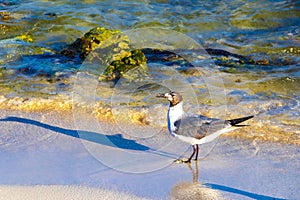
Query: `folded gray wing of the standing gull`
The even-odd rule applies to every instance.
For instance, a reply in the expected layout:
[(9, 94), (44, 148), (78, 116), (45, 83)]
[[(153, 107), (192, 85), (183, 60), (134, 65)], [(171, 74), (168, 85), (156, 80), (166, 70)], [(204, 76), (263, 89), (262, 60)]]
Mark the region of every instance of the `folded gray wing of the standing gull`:
[(208, 118), (203, 115), (193, 115), (176, 121), (174, 125), (176, 134), (201, 139), (223, 129), (228, 124), (225, 120)]

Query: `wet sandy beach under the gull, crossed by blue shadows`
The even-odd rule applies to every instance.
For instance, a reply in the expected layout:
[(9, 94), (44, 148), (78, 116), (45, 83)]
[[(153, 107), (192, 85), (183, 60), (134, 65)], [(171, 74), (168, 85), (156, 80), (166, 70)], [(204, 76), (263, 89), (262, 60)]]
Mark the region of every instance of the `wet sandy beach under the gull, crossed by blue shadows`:
[(0, 126), (0, 199), (300, 199), (298, 146), (221, 138), (187, 165), (157, 127), (5, 110)]

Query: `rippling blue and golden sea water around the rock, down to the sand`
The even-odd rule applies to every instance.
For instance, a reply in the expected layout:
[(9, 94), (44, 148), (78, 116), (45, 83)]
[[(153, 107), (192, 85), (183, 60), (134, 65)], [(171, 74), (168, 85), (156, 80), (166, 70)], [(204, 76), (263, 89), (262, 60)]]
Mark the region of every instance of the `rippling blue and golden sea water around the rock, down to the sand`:
[[(0, 17), (0, 106), (87, 109), (100, 119), (165, 126), (167, 103), (154, 94), (172, 89), (183, 94), (185, 109), (193, 113), (221, 118), (255, 114), (252, 128), (235, 136), (300, 144), (298, 9), (297, 1), (2, 1), (0, 11), (10, 14)], [(141, 80), (99, 83), (100, 72), (91, 73), (87, 63), (56, 54), (96, 26), (127, 33), (172, 30), (176, 37), (166, 43), (158, 32), (147, 34), (155, 45), (185, 47), (181, 53), (196, 70), (180, 60), (148, 59), (149, 74)], [(204, 48), (265, 64), (220, 63), (187, 48), (190, 43), (182, 42), (179, 33)]]

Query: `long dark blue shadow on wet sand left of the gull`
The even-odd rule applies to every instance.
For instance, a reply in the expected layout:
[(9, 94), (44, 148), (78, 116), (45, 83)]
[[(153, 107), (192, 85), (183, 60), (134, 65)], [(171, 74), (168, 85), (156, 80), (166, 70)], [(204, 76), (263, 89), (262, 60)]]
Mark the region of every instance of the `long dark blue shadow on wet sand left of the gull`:
[(106, 135), (106, 134), (90, 132), (90, 131), (66, 129), (66, 128), (45, 124), (36, 120), (20, 118), (20, 117), (7, 117), (4, 119), (0, 119), (0, 122), (18, 122), (18, 123), (30, 124), (63, 135), (79, 138), (82, 140), (94, 142), (101, 145), (121, 148), (121, 149), (138, 150), (138, 151), (150, 150), (150, 147), (145, 146), (143, 144), (139, 144), (135, 140), (126, 139), (122, 136), (122, 134)]

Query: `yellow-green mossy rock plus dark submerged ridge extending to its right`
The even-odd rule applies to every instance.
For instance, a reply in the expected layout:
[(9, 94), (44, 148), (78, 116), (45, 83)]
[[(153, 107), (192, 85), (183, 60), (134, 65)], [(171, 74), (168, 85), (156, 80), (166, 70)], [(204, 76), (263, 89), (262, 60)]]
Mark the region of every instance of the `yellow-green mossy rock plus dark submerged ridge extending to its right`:
[[(176, 52), (186, 49), (177, 49)], [(258, 67), (282, 65), (269, 59), (261, 60), (259, 56), (244, 56), (222, 49), (192, 49), (195, 55), (208, 53), (220, 70), (227, 73), (238, 73)], [(81, 38), (67, 45), (61, 55), (77, 58), (94, 74), (99, 75), (99, 81), (118, 81), (121, 77), (126, 80), (143, 80), (148, 75), (147, 62), (160, 62), (164, 65), (177, 65), (179, 73), (198, 75), (187, 60), (174, 52), (163, 49), (135, 49), (129, 38), (119, 30), (109, 30), (96, 27), (89, 30)], [(287, 64), (287, 63), (285, 63)], [(293, 63), (288, 63), (293, 64)]]

